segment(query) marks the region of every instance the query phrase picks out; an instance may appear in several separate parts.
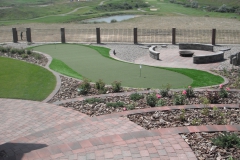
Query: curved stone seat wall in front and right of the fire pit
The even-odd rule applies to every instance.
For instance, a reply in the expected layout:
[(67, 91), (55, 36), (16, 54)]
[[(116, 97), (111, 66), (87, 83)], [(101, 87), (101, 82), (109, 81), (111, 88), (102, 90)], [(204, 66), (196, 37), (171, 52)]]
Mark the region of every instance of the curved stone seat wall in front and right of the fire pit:
[(223, 60), (224, 60), (224, 52), (222, 51), (214, 54), (209, 54), (209, 55), (193, 56), (193, 63), (195, 64), (213, 63), (213, 62), (220, 62)]

